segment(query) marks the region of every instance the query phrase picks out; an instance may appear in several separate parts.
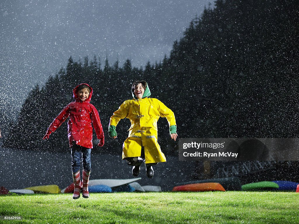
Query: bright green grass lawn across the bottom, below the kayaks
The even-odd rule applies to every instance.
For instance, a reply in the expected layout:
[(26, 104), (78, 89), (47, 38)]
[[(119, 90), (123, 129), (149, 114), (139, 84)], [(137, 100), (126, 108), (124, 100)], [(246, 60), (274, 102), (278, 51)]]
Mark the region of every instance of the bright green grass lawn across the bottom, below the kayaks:
[(0, 197), (0, 223), (299, 223), (295, 192), (34, 194)]

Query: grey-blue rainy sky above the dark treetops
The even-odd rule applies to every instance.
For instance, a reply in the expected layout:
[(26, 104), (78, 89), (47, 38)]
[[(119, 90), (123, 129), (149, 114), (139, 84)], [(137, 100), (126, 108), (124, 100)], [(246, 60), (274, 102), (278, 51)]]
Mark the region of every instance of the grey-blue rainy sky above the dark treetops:
[[(0, 3), (0, 109), (18, 111), (36, 84), (65, 67), (70, 56), (99, 56), (122, 66), (169, 55), (208, 0), (11, 0)], [(103, 68), (103, 66), (102, 66)]]

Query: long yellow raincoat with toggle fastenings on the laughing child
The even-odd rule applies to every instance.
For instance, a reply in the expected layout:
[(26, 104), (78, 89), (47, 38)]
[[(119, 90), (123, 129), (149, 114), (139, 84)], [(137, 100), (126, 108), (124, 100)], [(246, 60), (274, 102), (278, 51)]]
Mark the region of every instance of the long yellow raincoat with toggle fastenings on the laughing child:
[[(148, 86), (144, 92), (144, 96)], [(150, 95), (150, 92), (149, 92)], [(169, 126), (176, 125), (174, 113), (155, 98), (132, 99), (123, 102), (110, 118), (109, 125), (117, 126), (120, 119), (129, 118), (129, 136), (123, 143), (122, 158), (138, 157), (144, 146), (145, 163), (166, 162), (158, 144), (157, 121), (166, 118)]]

